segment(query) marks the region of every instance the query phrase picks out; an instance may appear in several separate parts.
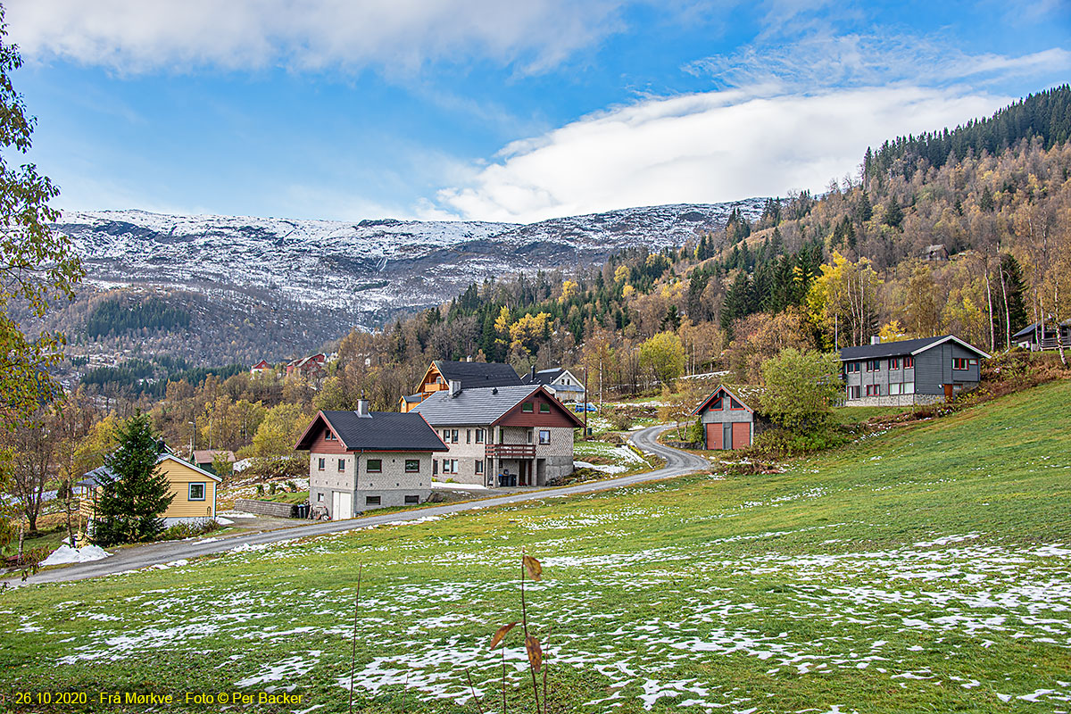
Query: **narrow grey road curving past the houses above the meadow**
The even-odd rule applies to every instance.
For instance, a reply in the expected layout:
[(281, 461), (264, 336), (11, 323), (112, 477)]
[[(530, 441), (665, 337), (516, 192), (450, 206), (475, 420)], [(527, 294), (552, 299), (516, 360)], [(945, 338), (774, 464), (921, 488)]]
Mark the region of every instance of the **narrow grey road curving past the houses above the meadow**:
[(136, 548), (124, 548), (116, 551), (110, 558), (104, 560), (69, 565), (66, 567), (51, 571), (42, 571), (30, 576), (26, 581), (20, 581), (17, 577), (7, 579), (9, 586), (28, 586), (45, 582), (67, 582), (72, 580), (85, 580), (104, 575), (115, 575), (125, 571), (136, 571), (153, 565), (171, 563), (177, 560), (188, 560), (200, 556), (211, 556), (213, 553), (225, 552), (243, 545), (256, 546), (267, 543), (277, 543), (280, 541), (292, 541), (326, 533), (338, 533), (358, 528), (368, 528), (371, 526), (382, 526), (384, 523), (398, 523), (412, 521), (428, 516), (444, 516), (463, 511), (474, 511), (478, 508), (489, 508), (493, 506), (507, 505), (509, 503), (523, 503), (525, 501), (539, 501), (547, 498), (559, 498), (562, 496), (573, 496), (576, 493), (592, 493), (597, 491), (620, 488), (621, 486), (632, 486), (648, 481), (659, 481), (662, 478), (673, 478), (689, 473), (695, 473), (710, 468), (710, 462), (702, 456), (689, 454), (665, 446), (658, 442), (660, 432), (668, 428), (662, 424), (650, 426), (636, 431), (630, 439), (632, 443), (645, 453), (652, 453), (665, 459), (665, 466), (654, 471), (637, 473), (631, 476), (620, 476), (618, 478), (606, 478), (575, 486), (562, 486), (560, 488), (543, 488), (540, 490), (511, 493), (509, 496), (493, 496), (474, 501), (462, 503), (450, 503), (425, 508), (414, 508), (401, 513), (383, 514), (381, 516), (363, 516), (351, 520), (334, 520), (313, 522), (308, 526), (297, 526), (295, 528), (281, 528), (274, 531), (263, 531), (259, 533), (248, 533), (246, 535), (236, 535), (220, 538), (217, 541), (171, 541), (168, 543), (157, 543)]

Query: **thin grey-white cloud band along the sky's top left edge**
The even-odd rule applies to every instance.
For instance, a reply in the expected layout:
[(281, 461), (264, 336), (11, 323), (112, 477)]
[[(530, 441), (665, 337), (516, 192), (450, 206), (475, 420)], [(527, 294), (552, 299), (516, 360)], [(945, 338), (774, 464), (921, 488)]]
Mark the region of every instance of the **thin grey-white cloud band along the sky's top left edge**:
[(28, 58), (137, 73), (160, 67), (296, 70), (487, 58), (555, 65), (621, 28), (619, 0), (9, 0)]

